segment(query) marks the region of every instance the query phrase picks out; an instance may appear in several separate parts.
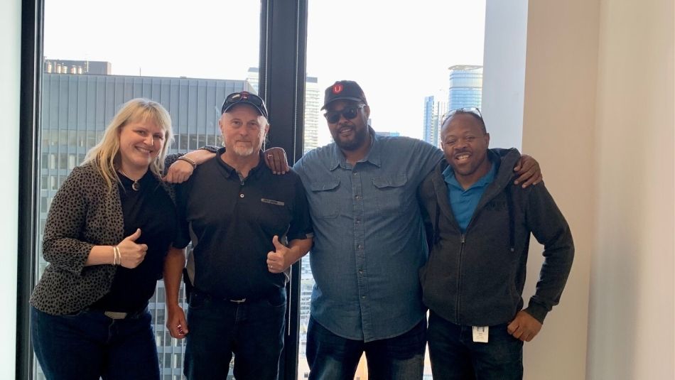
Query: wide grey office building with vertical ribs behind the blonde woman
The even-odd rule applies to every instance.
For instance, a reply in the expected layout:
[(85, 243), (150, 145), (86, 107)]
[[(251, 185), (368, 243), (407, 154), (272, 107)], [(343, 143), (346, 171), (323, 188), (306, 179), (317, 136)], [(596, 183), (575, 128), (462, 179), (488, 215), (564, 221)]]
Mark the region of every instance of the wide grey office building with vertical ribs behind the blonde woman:
[[(220, 145), (217, 121), (222, 102), (227, 94), (244, 90), (254, 92), (245, 80), (46, 72), (41, 114), (39, 241), (42, 241), (48, 209), (56, 191), (70, 170), (80, 165), (85, 153), (100, 141), (121, 104), (135, 97), (160, 102), (171, 114), (173, 124), (175, 141), (169, 153), (186, 153), (207, 144)], [(38, 274), (41, 274), (46, 266), (41, 244), (38, 244), (38, 257)], [(181, 299), (183, 295), (181, 286)], [(185, 342), (172, 338), (165, 327), (163, 281), (158, 281), (149, 308), (162, 379), (182, 379)], [(37, 379), (43, 379), (40, 371), (36, 373)]]

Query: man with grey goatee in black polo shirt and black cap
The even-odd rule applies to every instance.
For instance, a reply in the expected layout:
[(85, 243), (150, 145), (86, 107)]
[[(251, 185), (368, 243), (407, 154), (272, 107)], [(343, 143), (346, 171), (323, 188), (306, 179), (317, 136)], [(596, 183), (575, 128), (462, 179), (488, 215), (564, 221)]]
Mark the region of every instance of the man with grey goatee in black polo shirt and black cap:
[[(257, 95), (229, 94), (218, 121), (220, 159), (202, 163), (177, 190), (182, 234), (166, 259), (167, 326), (172, 337), (187, 337), (190, 380), (222, 378), (232, 354), (237, 379), (278, 377), (288, 271), (313, 234), (298, 175), (274, 175), (264, 163), (267, 116)], [(178, 289), (190, 240), (186, 320)]]

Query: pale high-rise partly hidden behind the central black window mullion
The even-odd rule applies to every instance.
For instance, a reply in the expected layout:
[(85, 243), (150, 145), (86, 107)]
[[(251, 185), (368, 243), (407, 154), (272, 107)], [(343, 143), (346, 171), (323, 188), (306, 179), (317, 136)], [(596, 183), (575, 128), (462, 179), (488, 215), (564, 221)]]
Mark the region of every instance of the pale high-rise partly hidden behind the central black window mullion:
[[(258, 67), (249, 67), (247, 82), (258, 91)], [(303, 153), (316, 148), (319, 143), (319, 108), (321, 107), (321, 91), (316, 77), (305, 80), (305, 129), (303, 134)]]

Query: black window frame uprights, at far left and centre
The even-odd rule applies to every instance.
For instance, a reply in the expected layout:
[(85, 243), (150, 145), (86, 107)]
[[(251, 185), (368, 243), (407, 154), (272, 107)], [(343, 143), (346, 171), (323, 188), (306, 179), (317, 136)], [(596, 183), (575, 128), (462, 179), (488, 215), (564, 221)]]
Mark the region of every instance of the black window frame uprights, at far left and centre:
[[(18, 280), (16, 308), (16, 379), (33, 379), (30, 304), (36, 283), (37, 209), (41, 168), (40, 112), (43, 72), (44, 1), (21, 1), (21, 101), (19, 131)], [(308, 0), (261, 0), (259, 93), (266, 99), (271, 146), (286, 150), (289, 163), (303, 151)], [(291, 96), (288, 96), (291, 94)], [(286, 342), (280, 379), (298, 378), (300, 264), (288, 283)]]

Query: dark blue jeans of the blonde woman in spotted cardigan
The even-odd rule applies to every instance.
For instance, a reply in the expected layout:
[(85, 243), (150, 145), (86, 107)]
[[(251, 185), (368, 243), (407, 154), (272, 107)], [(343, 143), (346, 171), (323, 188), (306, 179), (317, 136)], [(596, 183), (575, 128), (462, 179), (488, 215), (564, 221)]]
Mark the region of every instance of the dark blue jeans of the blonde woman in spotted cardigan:
[(31, 307), (31, 340), (48, 380), (159, 379), (146, 309), (124, 320), (83, 310), (50, 315)]

